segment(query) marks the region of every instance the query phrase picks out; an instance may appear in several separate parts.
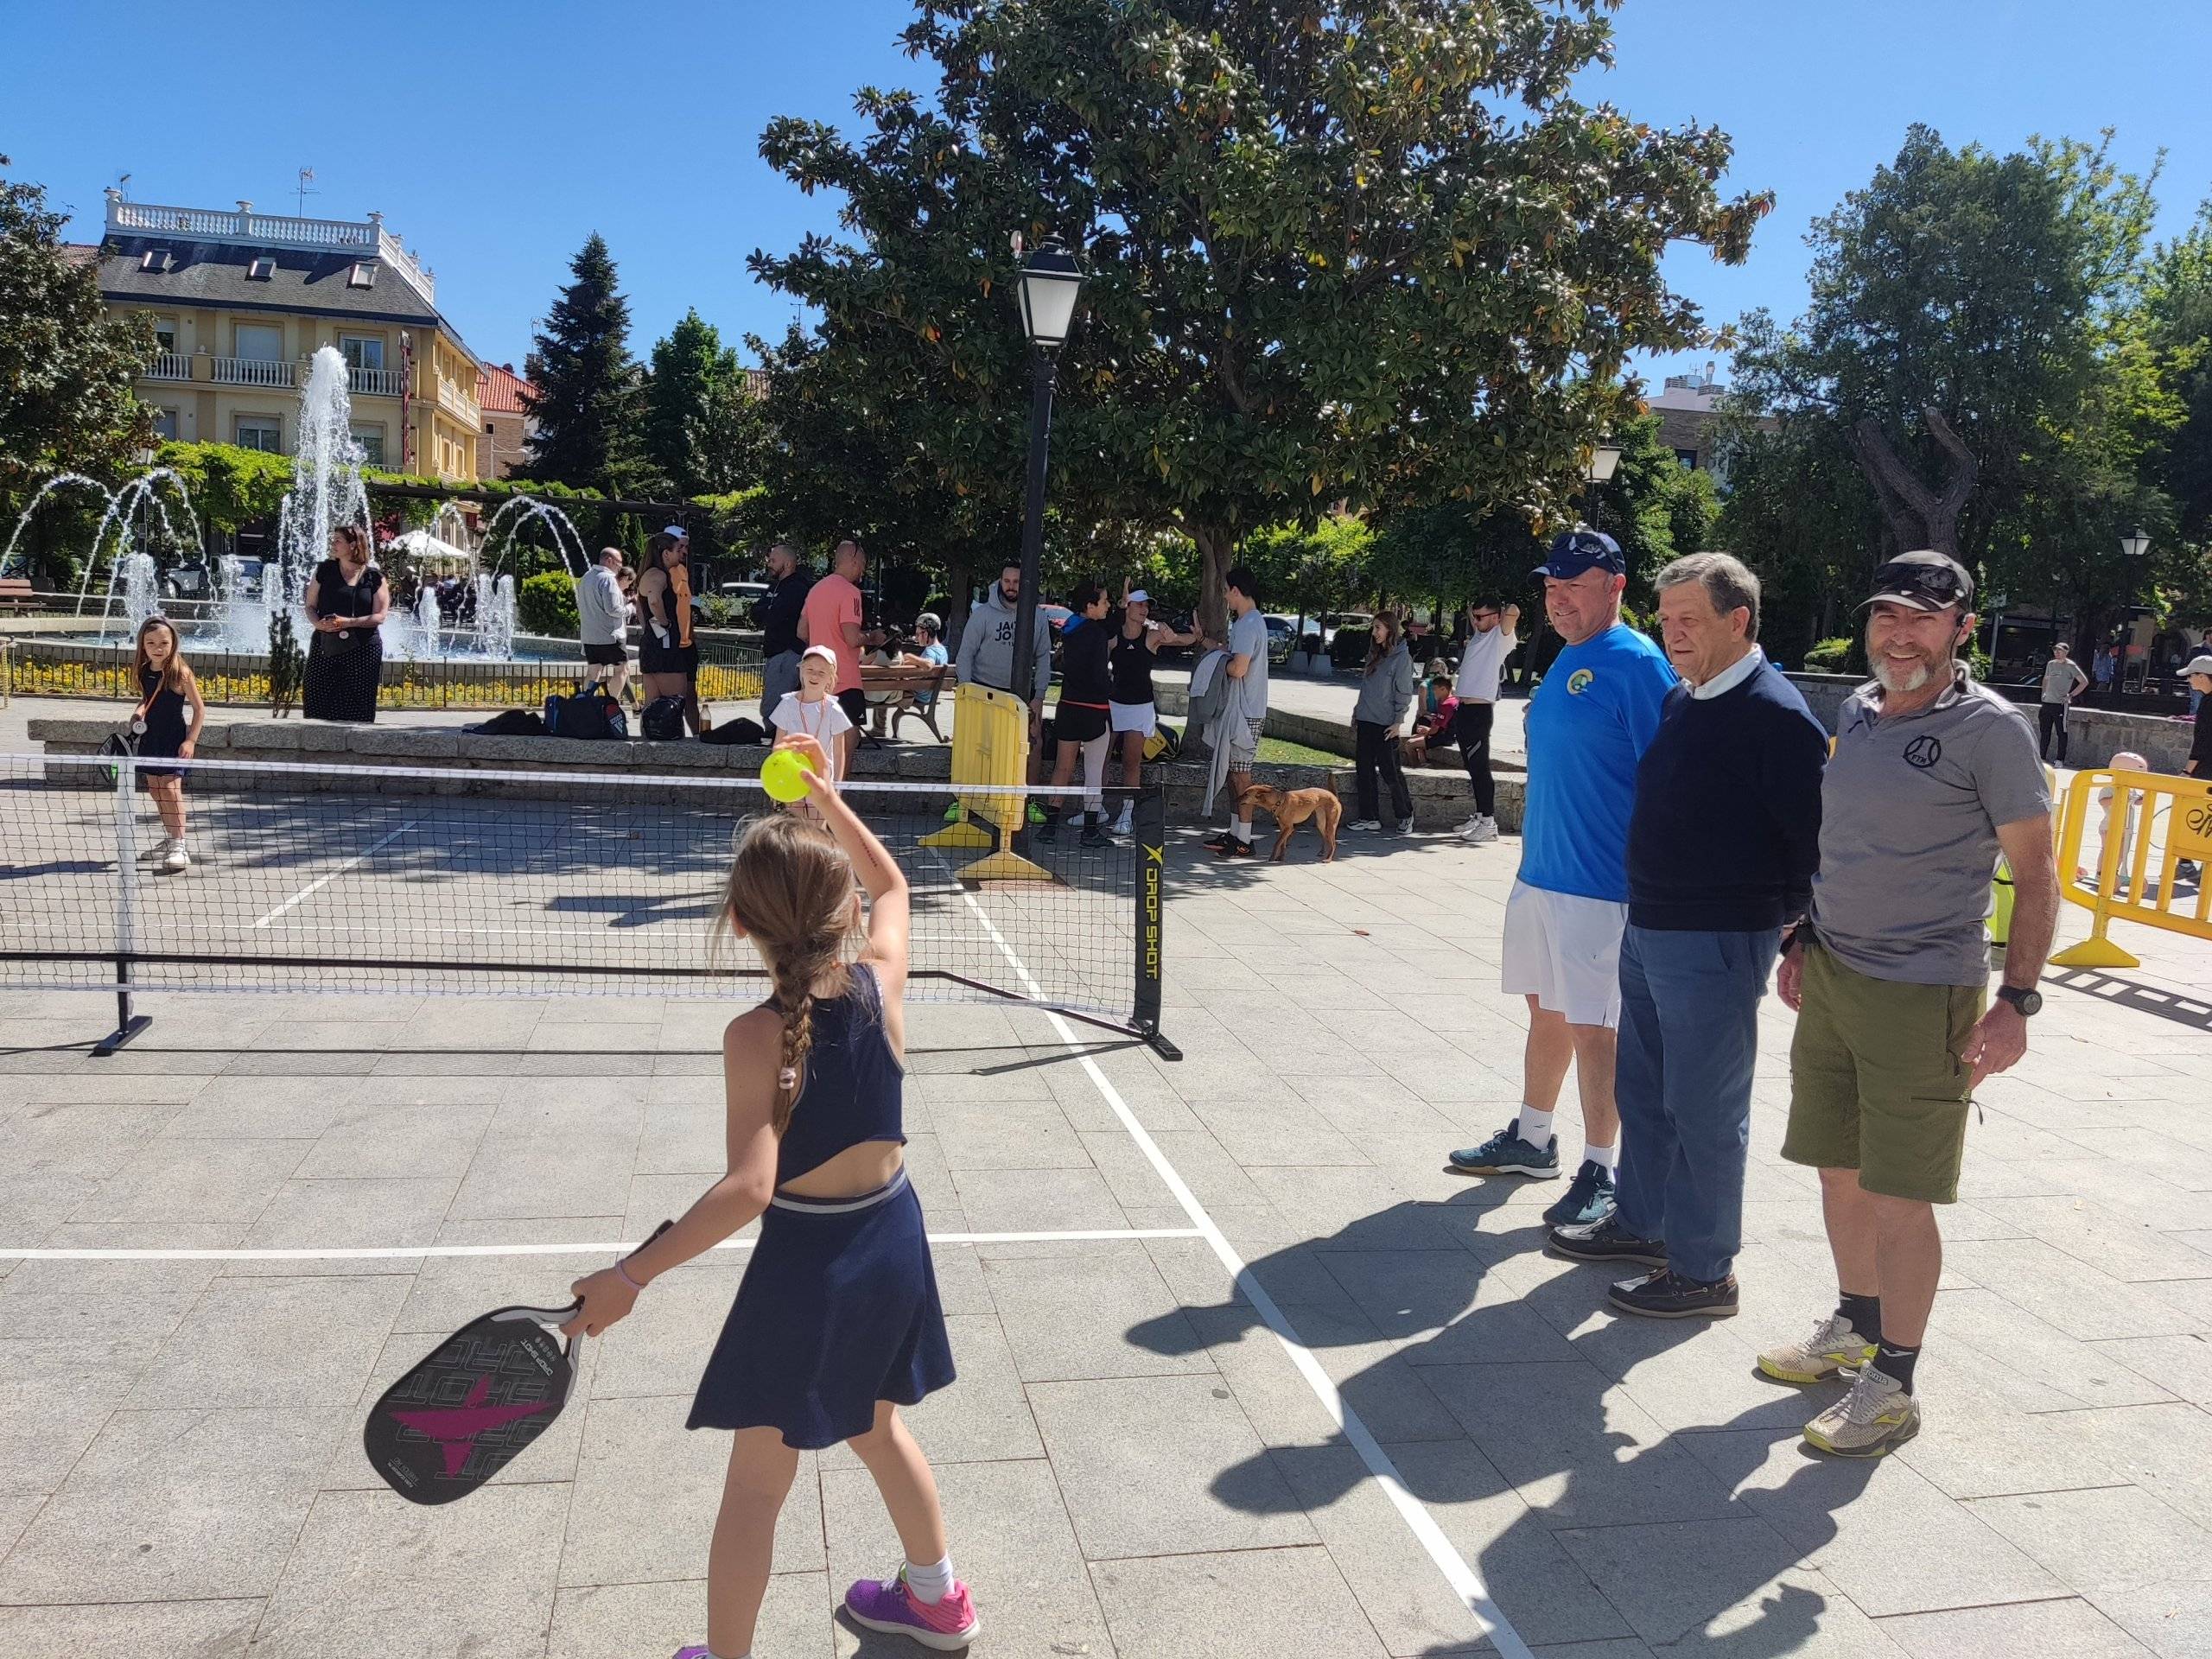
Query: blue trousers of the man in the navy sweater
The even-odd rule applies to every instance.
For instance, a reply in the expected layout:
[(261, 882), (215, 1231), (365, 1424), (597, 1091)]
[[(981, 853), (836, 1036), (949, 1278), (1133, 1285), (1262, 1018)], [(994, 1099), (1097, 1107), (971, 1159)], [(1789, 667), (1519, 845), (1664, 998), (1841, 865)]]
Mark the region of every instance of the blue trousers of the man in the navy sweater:
[(1617, 1221), (1666, 1239), (1686, 1279), (1725, 1279), (1743, 1245), (1759, 998), (1781, 929), (1621, 938)]

